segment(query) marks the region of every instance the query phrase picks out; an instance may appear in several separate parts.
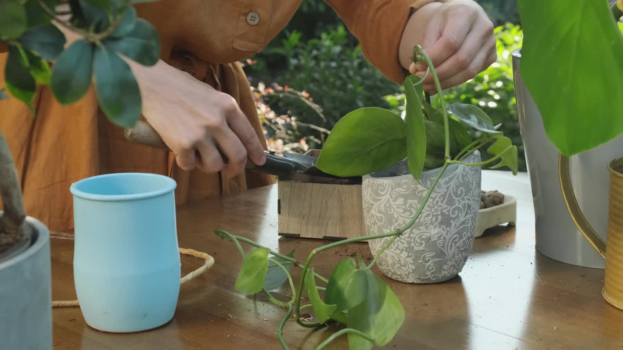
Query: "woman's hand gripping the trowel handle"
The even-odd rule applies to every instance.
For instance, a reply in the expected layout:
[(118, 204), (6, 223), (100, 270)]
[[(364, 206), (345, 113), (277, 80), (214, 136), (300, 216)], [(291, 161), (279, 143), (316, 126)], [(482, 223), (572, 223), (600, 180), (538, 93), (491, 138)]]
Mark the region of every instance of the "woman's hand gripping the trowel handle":
[(162, 60), (153, 67), (128, 64), (141, 89), (143, 116), (176, 154), (180, 168), (231, 177), (244, 171), (247, 155), (257, 165), (265, 163), (257, 133), (233, 97)]

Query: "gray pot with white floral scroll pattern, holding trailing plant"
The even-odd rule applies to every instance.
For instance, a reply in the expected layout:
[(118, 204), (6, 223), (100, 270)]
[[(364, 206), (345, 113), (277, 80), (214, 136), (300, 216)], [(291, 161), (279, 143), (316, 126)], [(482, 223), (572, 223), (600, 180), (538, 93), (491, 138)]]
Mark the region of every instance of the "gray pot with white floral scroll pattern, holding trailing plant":
[[(470, 154), (464, 162), (480, 162), (480, 153)], [(406, 225), (440, 171), (425, 171), (419, 184), (401, 163), (363, 177), (368, 235)], [(407, 283), (438, 283), (461, 272), (473, 246), (480, 175), (480, 166), (448, 166), (416, 223), (378, 258), (377, 265), (387, 277)], [(370, 240), (372, 253), (376, 255), (390, 239)]]

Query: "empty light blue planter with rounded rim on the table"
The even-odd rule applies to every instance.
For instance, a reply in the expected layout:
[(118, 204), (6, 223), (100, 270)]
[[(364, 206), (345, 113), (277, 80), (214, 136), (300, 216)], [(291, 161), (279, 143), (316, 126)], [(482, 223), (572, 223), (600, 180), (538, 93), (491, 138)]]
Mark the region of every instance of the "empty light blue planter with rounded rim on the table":
[(136, 332), (173, 318), (181, 277), (175, 187), (169, 177), (143, 173), (72, 184), (74, 282), (92, 328)]

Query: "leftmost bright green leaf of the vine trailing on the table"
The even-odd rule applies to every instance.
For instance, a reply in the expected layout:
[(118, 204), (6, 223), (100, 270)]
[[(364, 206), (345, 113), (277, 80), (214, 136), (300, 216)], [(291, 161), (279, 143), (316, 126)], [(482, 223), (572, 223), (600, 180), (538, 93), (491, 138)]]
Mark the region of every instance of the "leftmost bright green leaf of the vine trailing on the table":
[(255, 248), (244, 258), (242, 270), (235, 281), (235, 288), (247, 294), (262, 290), (268, 271), (269, 248)]

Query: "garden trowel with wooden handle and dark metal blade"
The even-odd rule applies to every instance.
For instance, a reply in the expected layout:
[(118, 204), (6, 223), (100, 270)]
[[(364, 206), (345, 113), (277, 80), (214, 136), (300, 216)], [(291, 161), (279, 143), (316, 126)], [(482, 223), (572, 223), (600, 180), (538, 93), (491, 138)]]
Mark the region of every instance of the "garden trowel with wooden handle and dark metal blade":
[[(126, 129), (125, 138), (134, 143), (169, 150), (169, 147), (164, 143), (162, 138), (160, 138), (156, 130), (145, 121), (137, 121), (133, 128)], [(317, 158), (313, 156), (286, 152), (282, 157), (269, 151), (264, 152), (266, 154), (266, 163), (260, 166), (247, 159), (245, 169), (276, 175), (280, 180), (288, 181), (334, 184), (361, 182), (360, 177), (339, 177), (321, 171), (316, 168)], [(219, 149), (219, 153), (221, 153), (224, 163), (227, 163), (227, 156), (222, 153), (221, 149)]]

